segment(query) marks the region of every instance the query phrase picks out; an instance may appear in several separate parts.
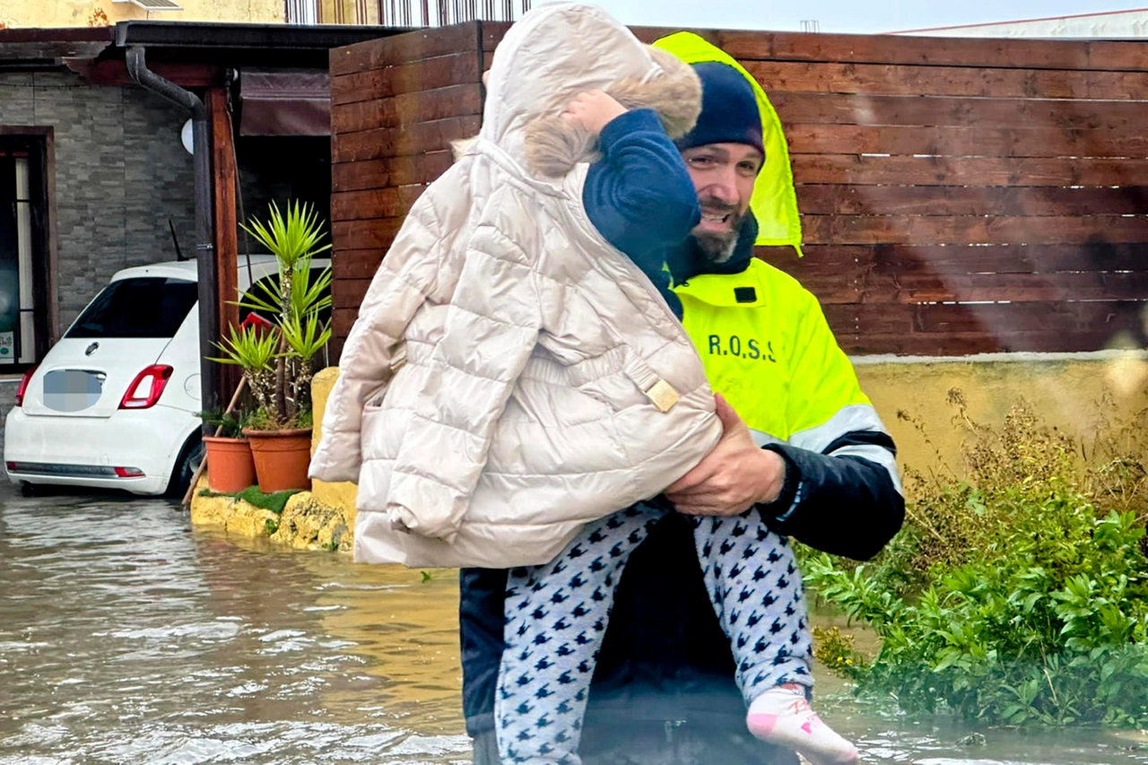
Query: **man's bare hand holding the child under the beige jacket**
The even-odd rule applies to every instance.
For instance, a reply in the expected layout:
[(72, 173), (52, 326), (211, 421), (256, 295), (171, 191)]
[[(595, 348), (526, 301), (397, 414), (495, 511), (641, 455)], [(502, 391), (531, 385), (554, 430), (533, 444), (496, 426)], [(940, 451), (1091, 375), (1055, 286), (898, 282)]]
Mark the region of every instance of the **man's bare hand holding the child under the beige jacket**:
[(771, 502), (785, 482), (785, 461), (758, 448), (734, 408), (715, 395), (724, 433), (698, 465), (666, 489), (666, 499), (689, 516), (737, 516)]

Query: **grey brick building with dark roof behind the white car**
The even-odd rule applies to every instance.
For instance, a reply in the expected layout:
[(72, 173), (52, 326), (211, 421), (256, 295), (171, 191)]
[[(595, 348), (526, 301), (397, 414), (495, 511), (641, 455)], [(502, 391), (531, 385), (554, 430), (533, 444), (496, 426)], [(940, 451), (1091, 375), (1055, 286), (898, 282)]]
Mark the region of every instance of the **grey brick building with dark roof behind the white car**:
[(328, 217), (328, 49), (388, 33), (163, 22), (0, 30), (0, 376), (38, 363), (116, 271), (203, 249), (185, 142), (192, 114), (132, 80), (129, 48), (210, 108), (219, 209), (205, 225), (233, 275), (236, 217), (288, 199)]

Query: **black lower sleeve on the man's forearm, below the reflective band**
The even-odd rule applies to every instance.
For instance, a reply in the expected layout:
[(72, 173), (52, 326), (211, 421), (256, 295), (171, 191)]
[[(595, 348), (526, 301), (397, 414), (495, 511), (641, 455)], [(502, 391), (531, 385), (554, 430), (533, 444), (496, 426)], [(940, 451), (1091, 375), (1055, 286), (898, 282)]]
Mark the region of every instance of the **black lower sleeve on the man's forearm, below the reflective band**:
[(895, 454), (892, 439), (875, 432), (848, 433), (824, 454), (788, 443), (763, 447), (785, 459), (781, 495), (758, 505), (769, 527), (832, 555), (855, 561), (877, 555), (905, 521), (905, 497), (883, 465), (832, 454), (861, 443)]

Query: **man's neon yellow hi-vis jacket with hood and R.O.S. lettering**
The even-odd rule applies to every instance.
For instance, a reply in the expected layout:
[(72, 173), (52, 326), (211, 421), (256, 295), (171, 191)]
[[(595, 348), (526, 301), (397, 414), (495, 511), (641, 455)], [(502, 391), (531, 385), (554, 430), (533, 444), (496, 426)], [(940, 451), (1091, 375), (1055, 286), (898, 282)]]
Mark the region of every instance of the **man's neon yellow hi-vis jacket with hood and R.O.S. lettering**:
[[(781, 119), (761, 85), (732, 56), (692, 32), (669, 34), (654, 46), (690, 64), (726, 63), (748, 80), (757, 95), (766, 149), (750, 201), (758, 223), (754, 244), (788, 245), (800, 255), (801, 221), (789, 148)], [(789, 445), (815, 455), (868, 459), (887, 471), (893, 488), (901, 494), (893, 441), (861, 392), (853, 365), (837, 345), (817, 299), (789, 275), (752, 257), (740, 273), (696, 276), (674, 292), (682, 301), (683, 324), (701, 354), (714, 391), (742, 416), (759, 446), (773, 445), (785, 457), (788, 484), (790, 476), (801, 474), (801, 486), (788, 486), (792, 496), (783, 492), (778, 500), (790, 507), (781, 510), (777, 519), (785, 521), (806, 496), (815, 496), (814, 504), (821, 505), (884, 496), (877, 501), (878, 515), (887, 516), (885, 525), (899, 527), (900, 509), (885, 507), (890, 497), (869, 485), (875, 480), (871, 472), (782, 448)], [(893, 504), (900, 504), (900, 497)], [(802, 524), (805, 531), (807, 526)], [(835, 546), (820, 547), (830, 550)], [(855, 554), (848, 546), (837, 549)]]

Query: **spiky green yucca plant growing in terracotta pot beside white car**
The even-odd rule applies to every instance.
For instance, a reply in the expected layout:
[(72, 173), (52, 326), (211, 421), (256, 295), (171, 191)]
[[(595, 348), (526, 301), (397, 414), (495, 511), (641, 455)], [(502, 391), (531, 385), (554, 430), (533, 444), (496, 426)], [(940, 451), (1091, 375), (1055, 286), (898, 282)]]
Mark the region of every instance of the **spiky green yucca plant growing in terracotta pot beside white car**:
[(272, 202), (266, 222), (243, 225), (278, 263), (278, 279), (261, 281), (236, 302), (271, 318), (271, 329), (232, 327), (218, 348), (224, 364), (238, 364), (271, 430), (297, 427), (310, 417), (315, 357), (331, 340), (329, 323), (320, 322), (331, 307), (331, 269), (311, 275), (311, 258), (331, 249), (310, 204)]

